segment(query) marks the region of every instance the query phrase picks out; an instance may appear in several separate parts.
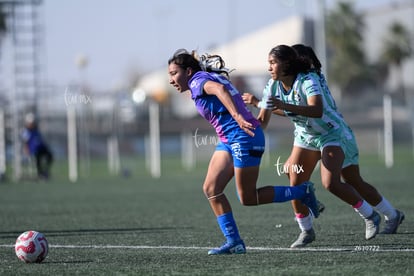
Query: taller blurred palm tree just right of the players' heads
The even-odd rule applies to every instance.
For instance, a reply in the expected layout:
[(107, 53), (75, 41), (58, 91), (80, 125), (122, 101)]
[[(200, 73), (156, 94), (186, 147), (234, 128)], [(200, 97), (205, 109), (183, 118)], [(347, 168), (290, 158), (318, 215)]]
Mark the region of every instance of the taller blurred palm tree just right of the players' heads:
[(371, 78), (363, 50), (363, 29), (362, 15), (351, 3), (340, 2), (327, 15), (328, 75), (343, 96), (360, 91), (361, 85)]

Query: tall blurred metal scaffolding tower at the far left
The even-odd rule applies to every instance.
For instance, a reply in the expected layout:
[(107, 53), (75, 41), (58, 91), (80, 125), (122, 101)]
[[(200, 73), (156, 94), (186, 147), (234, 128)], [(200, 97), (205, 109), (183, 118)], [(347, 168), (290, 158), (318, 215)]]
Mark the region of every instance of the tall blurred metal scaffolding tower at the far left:
[(43, 20), (42, 0), (0, 0), (6, 16), (6, 34), (11, 41), (13, 70), (8, 116), (13, 143), (13, 178), (22, 175), (20, 128), (23, 114), (37, 114), (38, 95), (42, 89)]

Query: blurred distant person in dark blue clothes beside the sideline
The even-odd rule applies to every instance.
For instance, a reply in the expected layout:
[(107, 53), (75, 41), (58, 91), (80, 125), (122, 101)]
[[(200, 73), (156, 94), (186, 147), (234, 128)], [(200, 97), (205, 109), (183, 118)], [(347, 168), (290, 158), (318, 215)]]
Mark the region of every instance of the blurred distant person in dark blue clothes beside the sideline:
[(53, 155), (49, 146), (43, 140), (34, 114), (29, 113), (25, 117), (25, 128), (22, 133), (24, 142), (24, 151), (34, 157), (36, 162), (36, 171), (39, 179), (49, 179), (50, 167), (53, 162)]

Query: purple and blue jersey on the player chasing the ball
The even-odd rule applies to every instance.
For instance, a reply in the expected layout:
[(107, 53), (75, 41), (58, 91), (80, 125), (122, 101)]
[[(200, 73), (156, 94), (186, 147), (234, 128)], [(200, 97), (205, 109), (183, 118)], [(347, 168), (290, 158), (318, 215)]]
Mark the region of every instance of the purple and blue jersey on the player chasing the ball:
[(244, 119), (255, 128), (260, 125), (260, 122), (247, 109), (239, 91), (228, 79), (217, 73), (199, 71), (189, 81), (191, 98), (194, 100), (198, 112), (215, 128), (218, 137), (223, 143), (227, 143), (229, 137), (235, 137), (237, 132), (244, 131), (216, 96), (208, 95), (204, 92), (203, 87), (207, 81), (223, 84), (230, 92), (238, 112)]

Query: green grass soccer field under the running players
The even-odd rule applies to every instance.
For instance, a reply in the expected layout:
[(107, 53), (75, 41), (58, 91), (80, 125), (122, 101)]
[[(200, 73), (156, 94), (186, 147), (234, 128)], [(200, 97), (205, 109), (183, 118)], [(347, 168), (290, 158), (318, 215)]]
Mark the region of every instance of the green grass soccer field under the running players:
[[(231, 183), (226, 193), (248, 252), (229, 256), (207, 255), (223, 237), (201, 191), (205, 163), (185, 172), (169, 158), (162, 177), (152, 179), (139, 159), (128, 161), (128, 178), (93, 162), (77, 183), (56, 164), (50, 182), (0, 183), (0, 275), (413, 275), (411, 151), (398, 151), (395, 162), (386, 169), (378, 157), (361, 156), (366, 180), (405, 212), (398, 234), (365, 241), (363, 220), (323, 190), (315, 173), (326, 210), (315, 221), (316, 241), (291, 250), (299, 230), (290, 203), (241, 206)], [(258, 186), (269, 184), (287, 185), (271, 165)], [(17, 236), (29, 229), (49, 241), (41, 264), (14, 254)]]

